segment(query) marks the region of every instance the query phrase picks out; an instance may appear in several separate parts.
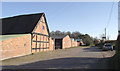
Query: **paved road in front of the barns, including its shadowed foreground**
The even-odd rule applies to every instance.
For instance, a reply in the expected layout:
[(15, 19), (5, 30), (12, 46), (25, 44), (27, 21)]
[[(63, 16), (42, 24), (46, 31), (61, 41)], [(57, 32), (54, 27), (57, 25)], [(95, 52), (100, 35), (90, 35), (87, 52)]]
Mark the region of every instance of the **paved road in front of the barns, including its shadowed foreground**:
[(3, 69), (108, 69), (115, 51), (76, 47), (4, 60)]

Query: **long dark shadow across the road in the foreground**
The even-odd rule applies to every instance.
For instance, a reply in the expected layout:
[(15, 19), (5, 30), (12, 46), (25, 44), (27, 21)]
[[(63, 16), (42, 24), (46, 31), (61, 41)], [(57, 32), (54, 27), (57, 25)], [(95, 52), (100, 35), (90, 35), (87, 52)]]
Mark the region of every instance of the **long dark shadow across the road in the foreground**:
[(107, 69), (109, 58), (69, 57), (38, 61), (16, 66), (3, 66), (3, 69)]

